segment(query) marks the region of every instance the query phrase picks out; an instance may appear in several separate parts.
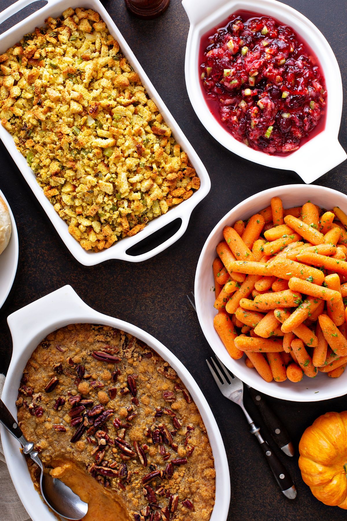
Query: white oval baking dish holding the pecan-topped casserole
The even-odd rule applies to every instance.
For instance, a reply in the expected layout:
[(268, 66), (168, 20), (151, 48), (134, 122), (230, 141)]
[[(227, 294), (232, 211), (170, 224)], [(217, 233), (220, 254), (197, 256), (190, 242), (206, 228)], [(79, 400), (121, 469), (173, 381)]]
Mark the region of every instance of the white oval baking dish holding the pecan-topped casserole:
[[(128, 322), (102, 315), (87, 306), (71, 286), (64, 286), (42, 299), (9, 315), (8, 325), (12, 334), (13, 353), (5, 380), (2, 400), (17, 418), (16, 400), (18, 388), (32, 352), (46, 335), (68, 324), (105, 324), (133, 334), (155, 350), (175, 369), (196, 403), (206, 427), (216, 470), (216, 497), (210, 521), (226, 521), (230, 502), (230, 477), (223, 440), (212, 411), (198, 384), (184, 365), (163, 344), (150, 334)], [(40, 495), (34, 490), (27, 463), (20, 452), (20, 445), (0, 425), (1, 440), (6, 463), (18, 495), (33, 521), (56, 521)]]

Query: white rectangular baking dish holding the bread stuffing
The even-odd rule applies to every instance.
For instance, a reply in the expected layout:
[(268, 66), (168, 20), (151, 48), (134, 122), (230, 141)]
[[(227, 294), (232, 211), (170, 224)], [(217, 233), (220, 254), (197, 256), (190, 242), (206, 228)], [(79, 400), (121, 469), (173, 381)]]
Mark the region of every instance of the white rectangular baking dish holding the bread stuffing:
[[(32, 2), (34, 2), (34, 0), (19, 0), (15, 4), (9, 6), (2, 13), (0, 13), (0, 23), (17, 13), (23, 7), (31, 4)], [(52, 224), (59, 233), (62, 241), (66, 244), (71, 254), (81, 264), (84, 264), (85, 266), (93, 266), (95, 264), (99, 264), (100, 262), (107, 261), (108, 259), (123, 259), (124, 261), (130, 262), (146, 261), (154, 255), (157, 255), (157, 253), (162, 252), (165, 248), (173, 244), (175, 241), (177, 241), (177, 239), (179, 239), (183, 235), (183, 233), (187, 229), (189, 217), (192, 210), (210, 191), (210, 178), (207, 173), (207, 170), (203, 166), (194, 148), (192, 148), (184, 133), (179, 128), (176, 121), (170, 114), (169, 110), (164, 105), (163, 101), (161, 100), (161, 97), (159, 96), (158, 92), (150, 82), (144, 69), (140, 66), (134, 53), (131, 51), (130, 46), (126, 43), (121, 32), (113, 22), (110, 15), (107, 13), (105, 7), (101, 4), (101, 2), (99, 2), (99, 0), (47, 0), (47, 5), (45, 5), (44, 7), (36, 11), (36, 13), (33, 13), (29, 17), (25, 18), (23, 21), (17, 23), (16, 26), (12, 27), (8, 31), (0, 35), (0, 54), (4, 53), (6, 49), (8, 49), (11, 45), (14, 45), (16, 42), (19, 42), (24, 34), (34, 31), (35, 27), (42, 27), (46, 18), (48, 18), (49, 16), (52, 16), (53, 18), (60, 16), (62, 12), (68, 7), (72, 7), (73, 9), (76, 7), (94, 9), (106, 22), (106, 25), (110, 33), (120, 44), (124, 56), (128, 59), (129, 63), (132, 65), (134, 70), (138, 72), (138, 75), (141, 78), (141, 81), (144, 84), (149, 96), (153, 99), (153, 101), (156, 102), (156, 105), (158, 106), (161, 114), (163, 115), (164, 120), (172, 129), (173, 137), (175, 138), (177, 143), (181, 145), (182, 150), (187, 152), (190, 162), (196, 169), (197, 174), (201, 180), (199, 190), (197, 190), (186, 201), (183, 201), (181, 204), (171, 208), (169, 212), (167, 212), (166, 214), (150, 221), (149, 224), (144, 228), (144, 230), (137, 233), (133, 237), (126, 237), (122, 240), (115, 242), (108, 250), (100, 252), (87, 252), (83, 250), (82, 246), (72, 237), (72, 235), (70, 235), (66, 222), (59, 217), (59, 215), (53, 208), (53, 205), (48, 201), (47, 197), (43, 193), (42, 188), (36, 182), (35, 175), (29, 167), (27, 160), (17, 150), (12, 136), (1, 125), (0, 139), (3, 141), (11, 157), (14, 159), (25, 181), (27, 181), (27, 183), (29, 184), (31, 190), (34, 192), (38, 202), (40, 202), (50, 221), (52, 221)], [(142, 241), (151, 233), (161, 229), (163, 226), (167, 225), (169, 222), (172, 222), (177, 218), (181, 219), (181, 226), (172, 235), (172, 237), (164, 241), (162, 244), (154, 247), (152, 250), (142, 255), (132, 256), (126, 253), (126, 250), (128, 250), (131, 246)]]

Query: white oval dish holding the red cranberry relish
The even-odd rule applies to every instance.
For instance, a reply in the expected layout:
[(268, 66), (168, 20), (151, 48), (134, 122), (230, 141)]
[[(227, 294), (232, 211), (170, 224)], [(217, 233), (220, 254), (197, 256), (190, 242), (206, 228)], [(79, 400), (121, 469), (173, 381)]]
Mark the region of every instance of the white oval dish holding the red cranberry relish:
[[(339, 65), (329, 43), (310, 20), (292, 7), (276, 0), (183, 0), (182, 4), (190, 22), (185, 60), (188, 96), (202, 125), (219, 143), (231, 152), (259, 165), (294, 170), (305, 183), (311, 183), (323, 176), (347, 158), (338, 142), (342, 113)], [(325, 128), (289, 155), (269, 156), (237, 141), (211, 114), (205, 102), (199, 74), (201, 37), (239, 10), (272, 16), (288, 24), (313, 49), (322, 67), (328, 91)]]

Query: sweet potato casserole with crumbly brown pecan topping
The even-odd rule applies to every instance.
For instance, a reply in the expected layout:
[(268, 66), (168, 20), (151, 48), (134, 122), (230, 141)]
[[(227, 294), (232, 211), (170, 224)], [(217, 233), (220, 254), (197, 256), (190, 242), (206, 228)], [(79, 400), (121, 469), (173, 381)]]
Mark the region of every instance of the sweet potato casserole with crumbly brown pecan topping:
[(83, 519), (210, 519), (215, 470), (198, 409), (174, 369), (130, 334), (89, 324), (49, 334), (17, 406), (45, 467), (88, 503)]

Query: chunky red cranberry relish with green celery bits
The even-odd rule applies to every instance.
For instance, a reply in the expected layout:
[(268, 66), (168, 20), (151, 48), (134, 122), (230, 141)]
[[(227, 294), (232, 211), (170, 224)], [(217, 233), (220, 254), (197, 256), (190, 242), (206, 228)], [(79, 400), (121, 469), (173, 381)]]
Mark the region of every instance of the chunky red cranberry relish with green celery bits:
[(293, 152), (324, 114), (324, 78), (290, 27), (249, 16), (232, 15), (203, 37), (202, 84), (238, 141), (267, 154)]

